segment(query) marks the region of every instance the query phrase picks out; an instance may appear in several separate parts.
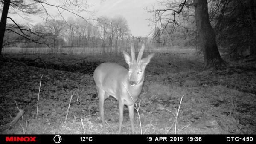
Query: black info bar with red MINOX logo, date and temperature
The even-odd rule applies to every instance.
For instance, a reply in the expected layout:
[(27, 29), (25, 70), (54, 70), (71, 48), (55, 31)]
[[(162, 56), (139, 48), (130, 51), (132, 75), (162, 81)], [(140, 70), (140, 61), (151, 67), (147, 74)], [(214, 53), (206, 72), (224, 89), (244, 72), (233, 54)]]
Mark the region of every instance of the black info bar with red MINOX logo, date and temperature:
[(0, 135), (0, 144), (255, 144), (255, 141), (256, 135)]

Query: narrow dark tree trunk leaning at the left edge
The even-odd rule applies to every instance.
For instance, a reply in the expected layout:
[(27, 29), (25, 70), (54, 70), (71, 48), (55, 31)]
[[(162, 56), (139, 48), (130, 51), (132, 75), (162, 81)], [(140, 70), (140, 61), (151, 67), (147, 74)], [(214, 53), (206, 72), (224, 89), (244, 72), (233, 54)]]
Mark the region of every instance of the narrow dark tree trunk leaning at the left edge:
[(7, 21), (7, 14), (10, 6), (11, 0), (4, 0), (3, 3), (3, 12), (0, 22), (0, 55), (2, 54), (2, 47), (3, 47), (3, 38), (4, 38), (4, 32), (6, 29), (6, 21)]

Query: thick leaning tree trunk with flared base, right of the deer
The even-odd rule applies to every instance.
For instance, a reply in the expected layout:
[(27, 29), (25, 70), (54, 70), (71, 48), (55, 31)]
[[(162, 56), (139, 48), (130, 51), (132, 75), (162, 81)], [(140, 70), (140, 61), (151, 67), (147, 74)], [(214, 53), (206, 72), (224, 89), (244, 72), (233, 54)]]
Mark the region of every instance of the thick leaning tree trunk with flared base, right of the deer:
[(196, 25), (204, 54), (205, 68), (223, 69), (226, 65), (218, 51), (215, 33), (209, 20), (207, 0), (193, 0), (193, 2)]

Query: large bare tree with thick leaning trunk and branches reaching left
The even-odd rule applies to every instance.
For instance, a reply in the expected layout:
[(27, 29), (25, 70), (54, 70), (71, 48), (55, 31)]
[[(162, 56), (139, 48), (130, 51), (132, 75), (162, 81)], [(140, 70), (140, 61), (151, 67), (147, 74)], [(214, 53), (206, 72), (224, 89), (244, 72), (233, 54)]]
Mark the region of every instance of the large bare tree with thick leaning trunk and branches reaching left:
[(159, 26), (158, 32), (163, 31), (168, 26), (171, 26), (170, 32), (173, 32), (177, 27), (189, 32), (189, 29), (180, 23), (179, 17), (185, 19), (192, 16), (191, 9), (194, 6), (195, 22), (204, 54), (205, 68), (223, 68), (225, 66), (224, 60), (220, 57), (215, 33), (209, 21), (207, 0), (182, 0), (180, 2), (168, 0), (160, 4), (164, 4), (166, 8), (149, 11), (154, 13), (154, 19), (151, 21), (155, 23), (156, 27)]

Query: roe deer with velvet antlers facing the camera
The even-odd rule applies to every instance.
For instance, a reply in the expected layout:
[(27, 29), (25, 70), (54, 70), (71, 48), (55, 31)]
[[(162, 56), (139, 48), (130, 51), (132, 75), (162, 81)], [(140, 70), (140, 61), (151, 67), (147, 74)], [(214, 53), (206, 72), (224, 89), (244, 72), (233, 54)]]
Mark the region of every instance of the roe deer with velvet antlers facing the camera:
[(145, 46), (142, 44), (137, 61), (135, 60), (133, 44), (131, 44), (131, 57), (127, 52), (123, 51), (125, 61), (129, 65), (129, 70), (116, 63), (102, 63), (93, 73), (99, 97), (99, 113), (102, 119), (104, 133), (106, 132), (104, 101), (111, 95), (116, 98), (119, 104), (118, 133), (121, 133), (123, 108), (124, 105), (127, 105), (131, 121), (131, 131), (134, 134), (134, 103), (142, 89), (145, 68), (154, 56), (154, 53), (152, 53), (146, 58), (141, 59), (144, 49)]

